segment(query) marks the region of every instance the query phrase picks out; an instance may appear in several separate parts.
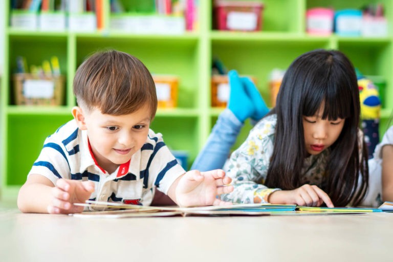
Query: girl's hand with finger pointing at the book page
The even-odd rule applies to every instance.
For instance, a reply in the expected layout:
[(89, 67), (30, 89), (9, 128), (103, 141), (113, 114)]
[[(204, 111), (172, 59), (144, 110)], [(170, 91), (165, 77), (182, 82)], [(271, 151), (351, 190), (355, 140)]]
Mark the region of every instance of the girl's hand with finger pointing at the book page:
[(325, 203), (328, 207), (334, 207), (328, 194), (319, 187), (309, 184), (302, 185), (294, 190), (275, 191), (270, 194), (269, 202), (309, 207), (319, 207), (322, 203)]

